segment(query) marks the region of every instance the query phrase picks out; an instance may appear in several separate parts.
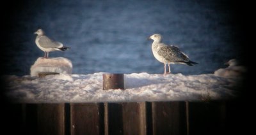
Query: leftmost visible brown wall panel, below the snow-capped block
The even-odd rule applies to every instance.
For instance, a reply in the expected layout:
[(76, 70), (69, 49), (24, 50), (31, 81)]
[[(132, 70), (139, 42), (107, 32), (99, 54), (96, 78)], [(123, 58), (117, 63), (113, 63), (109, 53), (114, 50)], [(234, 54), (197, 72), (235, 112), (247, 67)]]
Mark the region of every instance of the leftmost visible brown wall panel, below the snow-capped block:
[(38, 104), (38, 134), (65, 134), (65, 104)]

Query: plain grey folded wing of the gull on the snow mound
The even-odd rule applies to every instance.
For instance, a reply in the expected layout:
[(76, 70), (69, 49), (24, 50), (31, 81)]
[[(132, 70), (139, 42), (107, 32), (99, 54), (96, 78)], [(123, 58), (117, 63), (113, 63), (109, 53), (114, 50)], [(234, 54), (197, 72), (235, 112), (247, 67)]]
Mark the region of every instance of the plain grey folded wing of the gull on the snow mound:
[(62, 43), (60, 43), (58, 41), (52, 41), (47, 36), (41, 36), (38, 39), (38, 43), (40, 44), (40, 46), (42, 46), (44, 48), (60, 48), (63, 46)]

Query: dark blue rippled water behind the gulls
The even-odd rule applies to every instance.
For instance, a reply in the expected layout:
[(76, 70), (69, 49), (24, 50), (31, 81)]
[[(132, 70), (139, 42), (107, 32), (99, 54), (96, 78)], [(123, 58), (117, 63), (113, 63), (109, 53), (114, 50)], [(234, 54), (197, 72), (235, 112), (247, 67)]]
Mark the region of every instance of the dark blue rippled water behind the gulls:
[(71, 47), (49, 55), (72, 60), (74, 74), (163, 73), (147, 40), (155, 33), (199, 63), (171, 65), (173, 73), (213, 73), (229, 59), (239, 58), (230, 9), (227, 1), (20, 2), (11, 17), (10, 39), (4, 43), (6, 74), (29, 75), (31, 65), (44, 56), (33, 34), (39, 27)]

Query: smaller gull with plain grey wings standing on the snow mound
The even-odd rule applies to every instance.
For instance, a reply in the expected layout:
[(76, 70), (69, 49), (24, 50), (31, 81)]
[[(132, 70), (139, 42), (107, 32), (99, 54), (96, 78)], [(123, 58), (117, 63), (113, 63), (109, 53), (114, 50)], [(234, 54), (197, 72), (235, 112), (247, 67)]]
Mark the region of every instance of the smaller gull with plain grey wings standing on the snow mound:
[(65, 51), (68, 50), (69, 47), (63, 46), (62, 43), (58, 41), (53, 41), (52, 39), (48, 38), (44, 35), (44, 31), (42, 29), (38, 29), (35, 34), (36, 36), (36, 46), (40, 48), (42, 51), (44, 51), (44, 57), (48, 58), (49, 52), (52, 51)]

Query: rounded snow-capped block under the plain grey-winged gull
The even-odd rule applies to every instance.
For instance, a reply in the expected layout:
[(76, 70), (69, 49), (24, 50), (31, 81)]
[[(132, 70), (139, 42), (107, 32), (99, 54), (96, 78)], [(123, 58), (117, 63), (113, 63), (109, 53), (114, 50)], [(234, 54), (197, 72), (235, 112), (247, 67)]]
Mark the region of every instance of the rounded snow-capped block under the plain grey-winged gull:
[(47, 58), (39, 57), (30, 68), (31, 76), (38, 76), (38, 73), (72, 73), (72, 62), (63, 57)]

